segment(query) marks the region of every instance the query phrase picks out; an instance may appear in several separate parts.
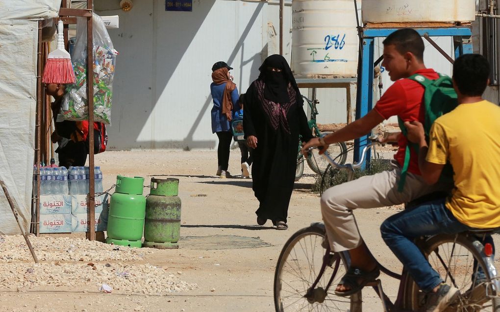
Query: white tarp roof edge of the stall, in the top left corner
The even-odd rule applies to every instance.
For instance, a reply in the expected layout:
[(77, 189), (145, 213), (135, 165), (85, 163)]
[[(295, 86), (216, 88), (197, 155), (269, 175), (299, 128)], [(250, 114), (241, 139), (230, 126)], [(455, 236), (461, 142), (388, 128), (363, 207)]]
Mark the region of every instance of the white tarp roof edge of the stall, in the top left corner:
[(56, 17), (60, 0), (0, 0), (0, 19)]

